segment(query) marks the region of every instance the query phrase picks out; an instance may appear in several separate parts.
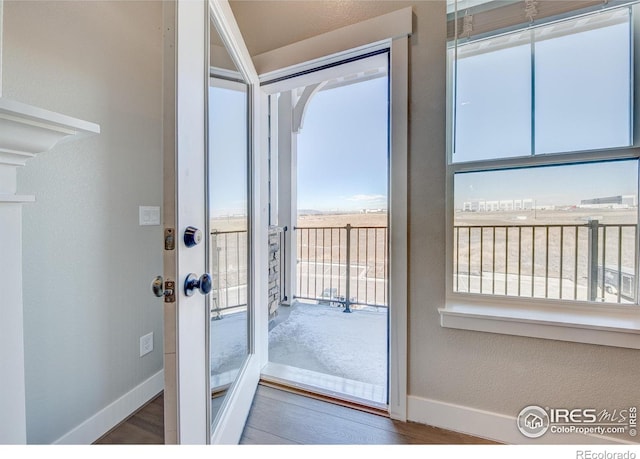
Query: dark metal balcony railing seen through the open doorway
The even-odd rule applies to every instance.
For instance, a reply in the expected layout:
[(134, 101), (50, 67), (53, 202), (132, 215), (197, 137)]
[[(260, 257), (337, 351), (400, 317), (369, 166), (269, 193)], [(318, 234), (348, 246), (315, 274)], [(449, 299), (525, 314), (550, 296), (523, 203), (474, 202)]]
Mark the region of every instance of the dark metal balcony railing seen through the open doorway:
[(343, 306), (387, 307), (387, 228), (294, 228), (297, 241), (295, 298)]

